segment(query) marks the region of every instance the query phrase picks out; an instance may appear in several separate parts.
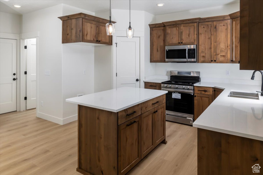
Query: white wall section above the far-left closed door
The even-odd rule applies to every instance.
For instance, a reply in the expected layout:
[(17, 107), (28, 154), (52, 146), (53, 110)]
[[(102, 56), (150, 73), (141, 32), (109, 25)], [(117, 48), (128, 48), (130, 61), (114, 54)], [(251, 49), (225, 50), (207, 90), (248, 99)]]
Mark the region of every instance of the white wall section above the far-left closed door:
[(0, 12), (0, 32), (20, 34), (20, 15)]

